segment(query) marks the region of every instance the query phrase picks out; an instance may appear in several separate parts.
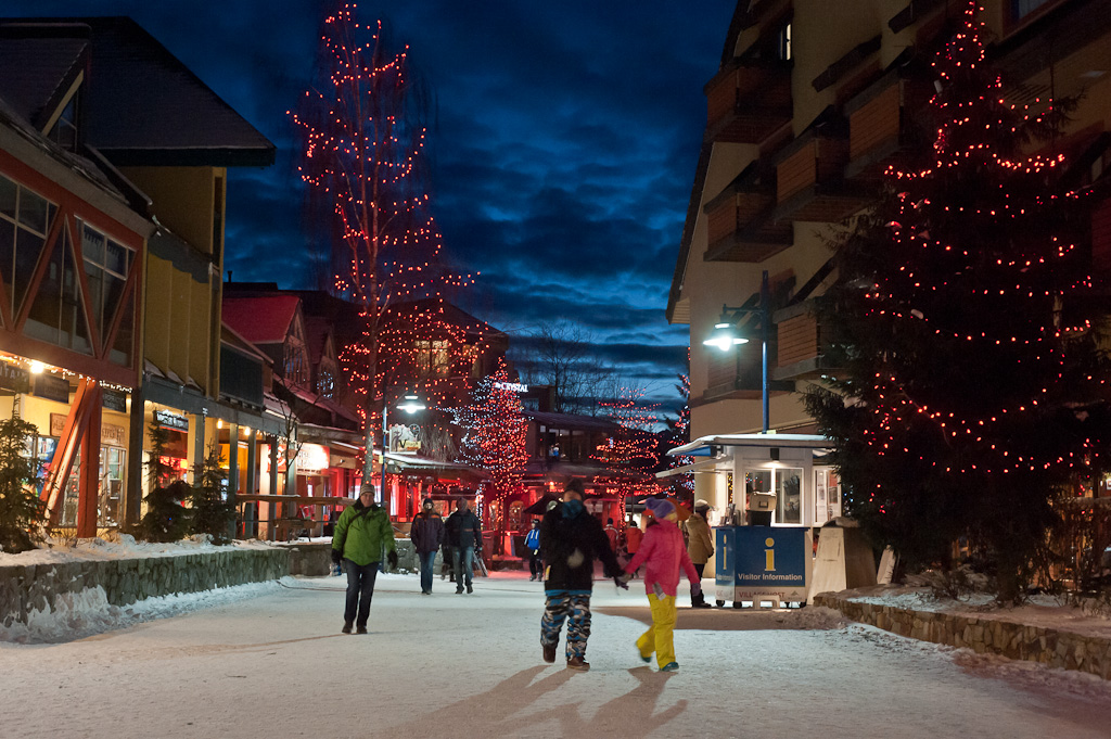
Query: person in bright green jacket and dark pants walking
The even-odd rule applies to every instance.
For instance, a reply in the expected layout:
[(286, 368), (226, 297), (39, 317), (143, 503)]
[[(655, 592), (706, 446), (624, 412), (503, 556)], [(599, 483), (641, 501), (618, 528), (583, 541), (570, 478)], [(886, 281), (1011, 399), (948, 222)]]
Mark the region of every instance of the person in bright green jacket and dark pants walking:
[(390, 567), (397, 567), (393, 526), (386, 509), (374, 502), (374, 489), (368, 486), (359, 493), (359, 500), (340, 513), (332, 535), (332, 561), (338, 565), (342, 560), (348, 575), (343, 633), (351, 633), (352, 625), (358, 633), (367, 633), (370, 600), (374, 597), (374, 580), (383, 549)]

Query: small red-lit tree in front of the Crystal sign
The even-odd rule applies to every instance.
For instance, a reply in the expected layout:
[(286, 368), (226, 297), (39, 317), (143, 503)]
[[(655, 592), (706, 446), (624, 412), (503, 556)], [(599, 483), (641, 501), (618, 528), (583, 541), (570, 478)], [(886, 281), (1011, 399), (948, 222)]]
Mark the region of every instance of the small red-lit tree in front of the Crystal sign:
[(511, 388), (506, 362), (474, 387), (469, 406), (454, 411), (462, 430), (462, 461), (490, 473), (482, 485), (481, 501), (490, 506), (496, 531), (504, 526), (504, 500), (518, 489), (529, 463), (526, 442), (529, 422), (521, 415), (521, 399)]

